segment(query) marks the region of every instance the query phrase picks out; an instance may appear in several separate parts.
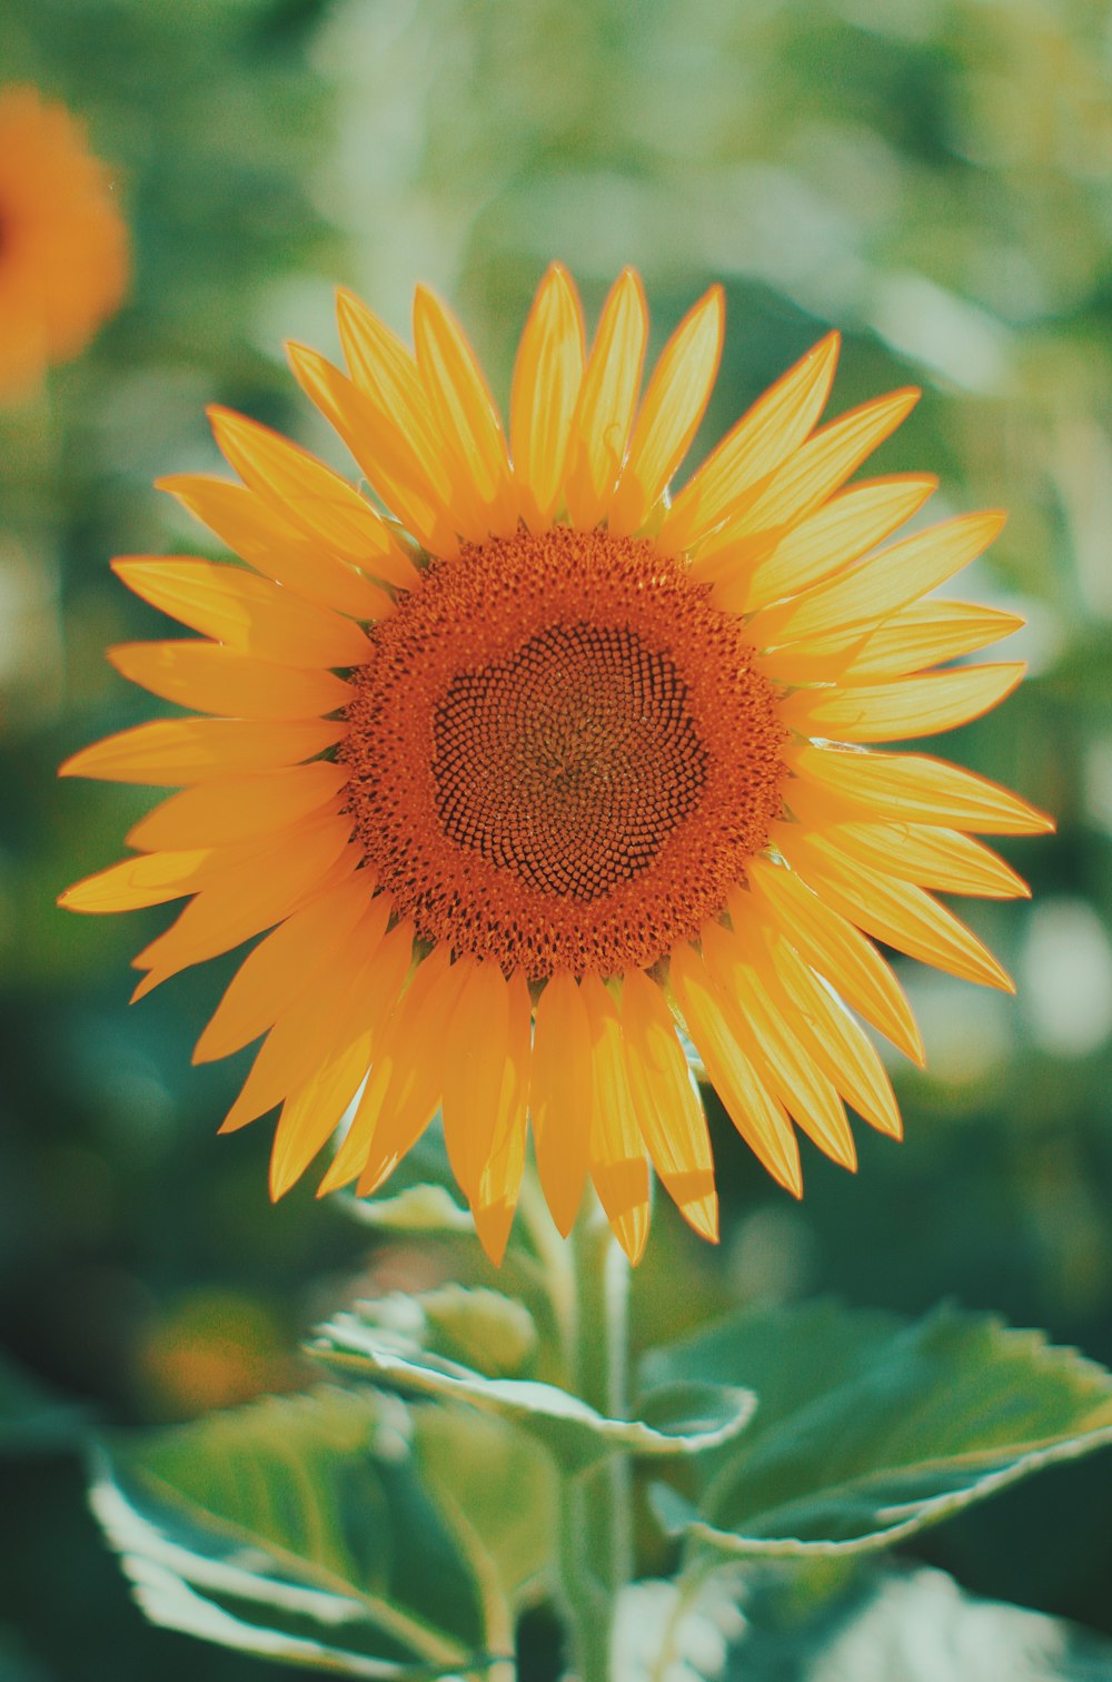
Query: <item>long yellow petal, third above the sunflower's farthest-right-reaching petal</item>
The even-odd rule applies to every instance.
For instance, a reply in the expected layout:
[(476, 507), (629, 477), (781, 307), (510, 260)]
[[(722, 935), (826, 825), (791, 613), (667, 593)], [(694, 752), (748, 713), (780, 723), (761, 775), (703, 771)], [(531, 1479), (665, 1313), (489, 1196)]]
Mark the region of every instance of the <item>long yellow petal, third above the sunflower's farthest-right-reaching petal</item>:
[[(880, 624), (984, 553), (1004, 520), (1006, 515), (988, 511), (927, 526), (801, 600), (772, 609), (772, 614), (757, 614), (754, 637), (762, 646), (799, 643), (848, 626)], [(772, 617), (777, 619), (774, 627)]]

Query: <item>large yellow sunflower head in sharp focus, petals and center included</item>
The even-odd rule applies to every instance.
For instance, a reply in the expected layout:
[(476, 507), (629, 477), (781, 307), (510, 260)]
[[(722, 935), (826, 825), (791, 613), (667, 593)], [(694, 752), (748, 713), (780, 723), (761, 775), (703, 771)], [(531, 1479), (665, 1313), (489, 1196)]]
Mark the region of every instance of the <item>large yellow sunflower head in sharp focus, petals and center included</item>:
[(516, 355), (508, 436), (432, 294), (416, 296), (414, 353), (343, 291), (338, 318), (347, 373), (301, 345), (289, 357), (380, 506), (266, 427), (210, 410), (242, 483), (160, 486), (247, 565), (114, 562), (202, 641), (111, 659), (217, 717), (143, 723), (62, 767), (182, 787), (128, 836), (138, 856), (62, 903), (192, 897), (135, 960), (136, 997), (271, 930), (195, 1055), (266, 1034), (224, 1129), (281, 1105), (274, 1196), (348, 1110), (321, 1191), (355, 1182), (360, 1196), (441, 1112), (498, 1258), (532, 1120), (560, 1231), (590, 1179), (636, 1260), (651, 1166), (715, 1238), (690, 1048), (797, 1196), (796, 1129), (846, 1167), (846, 1102), (900, 1134), (858, 1018), (922, 1061), (870, 935), (1009, 987), (932, 890), (1026, 893), (969, 831), (1050, 821), (956, 765), (871, 750), (961, 725), (1019, 680), (1011, 663), (940, 666), (1019, 621), (930, 594), (1003, 516), (887, 543), (937, 481), (846, 481), (917, 392), (818, 426), (836, 335), (670, 498), (717, 373), (720, 288), (638, 402), (638, 276), (614, 284), (587, 353), (575, 288), (553, 266)]

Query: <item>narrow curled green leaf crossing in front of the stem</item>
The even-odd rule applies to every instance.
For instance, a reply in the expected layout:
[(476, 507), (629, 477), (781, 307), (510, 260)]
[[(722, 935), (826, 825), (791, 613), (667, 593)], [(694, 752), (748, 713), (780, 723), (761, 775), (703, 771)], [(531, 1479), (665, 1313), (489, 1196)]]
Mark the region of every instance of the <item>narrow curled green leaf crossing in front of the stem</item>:
[[(496, 1297), (495, 1292), (459, 1295)], [(668, 1386), (668, 1393), (654, 1403), (659, 1411), (656, 1423), (641, 1418), (612, 1420), (557, 1384), (488, 1378), (453, 1359), (436, 1314), (429, 1317), (422, 1302), (421, 1297), (382, 1299), (362, 1304), (352, 1314), (340, 1314), (321, 1327), (310, 1354), (348, 1379), (363, 1378), (372, 1384), (463, 1403), (511, 1420), (540, 1438), (567, 1472), (580, 1472), (614, 1453), (695, 1455), (739, 1431), (752, 1411), (752, 1398), (733, 1386), (722, 1389), (712, 1403), (712, 1386), (693, 1389), (685, 1384), (681, 1391)], [(508, 1299), (501, 1302), (506, 1304)], [(490, 1302), (483, 1312), (490, 1314)], [(500, 1314), (505, 1315), (506, 1310), (501, 1309)]]

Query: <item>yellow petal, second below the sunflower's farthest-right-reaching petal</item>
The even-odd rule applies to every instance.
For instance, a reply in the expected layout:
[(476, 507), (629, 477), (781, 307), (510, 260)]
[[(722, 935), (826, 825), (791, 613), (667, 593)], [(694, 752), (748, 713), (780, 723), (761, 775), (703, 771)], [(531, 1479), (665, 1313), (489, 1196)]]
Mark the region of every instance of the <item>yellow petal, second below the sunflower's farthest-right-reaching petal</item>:
[[(826, 836), (799, 836), (786, 844), (787, 824), (777, 841), (792, 868), (843, 917), (924, 964), (966, 981), (1014, 992), (1011, 977), (977, 937), (952, 912), (910, 881), (866, 870), (841, 853)], [(791, 846), (791, 851), (787, 849)]]

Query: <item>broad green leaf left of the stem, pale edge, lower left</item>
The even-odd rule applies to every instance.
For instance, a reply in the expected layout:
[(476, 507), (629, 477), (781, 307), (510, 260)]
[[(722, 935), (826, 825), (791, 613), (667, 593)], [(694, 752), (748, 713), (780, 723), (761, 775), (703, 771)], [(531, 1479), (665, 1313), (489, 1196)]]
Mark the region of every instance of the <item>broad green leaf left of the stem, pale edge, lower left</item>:
[[(478, 1426), (478, 1428), (476, 1428)], [(547, 1564), (545, 1457), (495, 1421), (323, 1389), (98, 1457), (93, 1507), (160, 1625), (362, 1677), (485, 1670)]]

